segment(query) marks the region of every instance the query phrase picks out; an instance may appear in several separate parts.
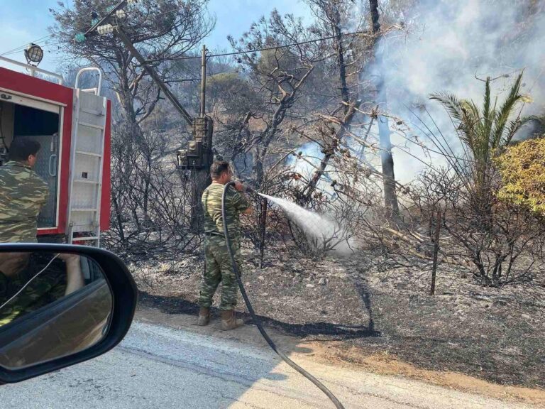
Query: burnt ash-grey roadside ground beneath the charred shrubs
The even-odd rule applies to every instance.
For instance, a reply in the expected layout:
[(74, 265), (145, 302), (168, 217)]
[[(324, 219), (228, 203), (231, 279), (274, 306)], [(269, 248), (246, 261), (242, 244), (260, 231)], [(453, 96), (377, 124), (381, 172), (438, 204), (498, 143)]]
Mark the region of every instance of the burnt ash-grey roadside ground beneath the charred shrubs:
[[(431, 297), (429, 268), (387, 268), (380, 253), (321, 261), (280, 248), (267, 253), (261, 270), (255, 251), (243, 249), (243, 282), (269, 327), (306, 341), (338, 341), (362, 355), (395, 356), (420, 369), (545, 388), (543, 282), (484, 288), (470, 271), (441, 265)], [(195, 314), (202, 259), (157, 258), (129, 264), (141, 305)], [(242, 301), (238, 310), (250, 320)]]

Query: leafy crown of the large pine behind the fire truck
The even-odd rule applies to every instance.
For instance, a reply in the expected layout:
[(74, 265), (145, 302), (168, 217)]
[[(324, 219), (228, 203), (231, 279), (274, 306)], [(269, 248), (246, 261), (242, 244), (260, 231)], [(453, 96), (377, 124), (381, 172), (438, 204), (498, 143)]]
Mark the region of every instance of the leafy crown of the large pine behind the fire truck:
[[(67, 62), (91, 62), (101, 67), (109, 87), (117, 93), (122, 118), (132, 125), (153, 112), (160, 99), (158, 87), (115, 35), (88, 36), (82, 43), (74, 40), (77, 33), (90, 28), (94, 17), (105, 16), (116, 3), (77, 0), (68, 6), (60, 2), (57, 9), (50, 9), (55, 18), (50, 31), (67, 55)], [(127, 18), (117, 23), (168, 83), (173, 80), (169, 62), (193, 50), (214, 27), (206, 6), (207, 0), (141, 0), (128, 7)]]

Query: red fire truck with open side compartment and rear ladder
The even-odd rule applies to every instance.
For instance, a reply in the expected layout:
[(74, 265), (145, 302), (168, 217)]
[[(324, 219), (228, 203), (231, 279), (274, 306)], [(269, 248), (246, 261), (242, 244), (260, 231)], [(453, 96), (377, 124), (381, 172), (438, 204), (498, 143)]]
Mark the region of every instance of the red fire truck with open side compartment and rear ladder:
[[(0, 67), (0, 164), (14, 138), (40, 142), (35, 171), (48, 182), (50, 197), (38, 219), (38, 241), (99, 246), (100, 231), (109, 229), (111, 141), (111, 102), (100, 94), (100, 70), (80, 70), (70, 88), (53, 72), (0, 60), (31, 72)], [(97, 87), (79, 89), (92, 70)]]

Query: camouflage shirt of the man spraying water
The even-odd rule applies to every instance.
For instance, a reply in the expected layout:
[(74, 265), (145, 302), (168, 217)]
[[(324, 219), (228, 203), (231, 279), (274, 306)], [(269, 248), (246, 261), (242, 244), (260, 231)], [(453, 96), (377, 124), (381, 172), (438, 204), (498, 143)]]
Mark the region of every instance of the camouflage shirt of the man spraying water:
[[(224, 235), (224, 219), (221, 217), (221, 195), (223, 193), (224, 185), (212, 183), (202, 194), (205, 233)], [(232, 239), (240, 238), (240, 214), (248, 207), (250, 207), (250, 203), (248, 203), (246, 197), (241, 195), (233, 186), (229, 187), (226, 196), (226, 217), (229, 236)]]

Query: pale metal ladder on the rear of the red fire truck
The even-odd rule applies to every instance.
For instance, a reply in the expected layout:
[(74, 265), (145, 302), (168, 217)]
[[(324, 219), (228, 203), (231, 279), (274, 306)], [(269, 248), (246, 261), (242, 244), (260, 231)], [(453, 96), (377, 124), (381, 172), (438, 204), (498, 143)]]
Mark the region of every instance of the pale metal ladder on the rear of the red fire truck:
[[(79, 89), (83, 72), (97, 71), (97, 87)], [(100, 246), (100, 207), (107, 100), (101, 97), (102, 72), (97, 67), (79, 70), (74, 94), (75, 121), (70, 156), (68, 243)]]

